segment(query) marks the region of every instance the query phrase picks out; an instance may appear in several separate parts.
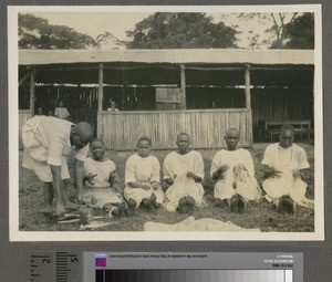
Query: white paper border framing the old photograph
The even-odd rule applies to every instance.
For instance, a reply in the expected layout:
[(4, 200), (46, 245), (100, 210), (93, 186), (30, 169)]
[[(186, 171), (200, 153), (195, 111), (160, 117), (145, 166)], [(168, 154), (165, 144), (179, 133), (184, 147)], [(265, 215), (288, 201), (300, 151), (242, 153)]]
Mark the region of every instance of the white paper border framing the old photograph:
[[(9, 6), (9, 236), (10, 241), (321, 241), (324, 240), (323, 81), (321, 4), (283, 6)], [(314, 41), (314, 231), (313, 232), (122, 232), (122, 231), (20, 231), (18, 135), (18, 14), (29, 11), (90, 12), (313, 12)]]

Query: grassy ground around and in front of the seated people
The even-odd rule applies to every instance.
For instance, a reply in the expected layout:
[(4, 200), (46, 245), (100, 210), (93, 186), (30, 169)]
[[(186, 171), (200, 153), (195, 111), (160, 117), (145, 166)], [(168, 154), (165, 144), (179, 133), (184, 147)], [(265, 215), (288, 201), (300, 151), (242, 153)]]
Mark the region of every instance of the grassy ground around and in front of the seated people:
[[(300, 144), (309, 158), (311, 165), (312, 178), (310, 179), (307, 197), (313, 199), (313, 163), (314, 154), (313, 146), (309, 144)], [(251, 156), (256, 166), (256, 174), (259, 184), (262, 182), (261, 175), (261, 159), (267, 144), (255, 144), (250, 148)], [(264, 199), (259, 202), (251, 203), (247, 213), (232, 213), (228, 209), (222, 209), (216, 205), (212, 198), (212, 181), (208, 176), (212, 157), (217, 150), (206, 149), (200, 150), (204, 161), (206, 177), (204, 187), (206, 198), (209, 205), (205, 208), (195, 208), (190, 216), (196, 219), (199, 218), (214, 218), (222, 221), (231, 221), (242, 228), (259, 228), (261, 231), (271, 232), (312, 232), (314, 231), (314, 213), (312, 209), (298, 207), (294, 216), (280, 215)], [(153, 153), (160, 164), (163, 163), (168, 150), (155, 150)], [(120, 178), (124, 179), (124, 169), (126, 159), (133, 152), (106, 152), (106, 157), (112, 159), (118, 167)], [(21, 231), (76, 231), (80, 223), (58, 224), (54, 218), (45, 218), (44, 215), (39, 213), (42, 206), (42, 182), (34, 176), (31, 170), (21, 167), (22, 152), (20, 152), (20, 170), (19, 170), (19, 229)], [(69, 192), (73, 195), (73, 190), (69, 188)], [(100, 215), (102, 211), (95, 211)], [(142, 231), (146, 221), (176, 223), (186, 219), (189, 215), (169, 213), (163, 209), (155, 212), (146, 212), (144, 209), (138, 208), (135, 215), (131, 218), (113, 218), (106, 219), (112, 224), (98, 229), (98, 231)]]

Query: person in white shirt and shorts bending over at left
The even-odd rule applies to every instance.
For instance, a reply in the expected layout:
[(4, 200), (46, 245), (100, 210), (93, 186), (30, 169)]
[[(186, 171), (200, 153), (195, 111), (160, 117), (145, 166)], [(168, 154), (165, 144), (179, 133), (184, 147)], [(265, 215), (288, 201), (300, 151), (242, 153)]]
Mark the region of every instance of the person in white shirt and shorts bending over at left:
[(44, 182), (44, 207), (41, 212), (52, 212), (53, 196), (56, 197), (56, 215), (63, 215), (65, 209), (76, 208), (69, 201), (64, 191), (63, 179), (70, 178), (66, 158), (75, 154), (75, 180), (79, 200), (83, 196), (84, 159), (89, 143), (93, 138), (90, 124), (73, 124), (50, 116), (34, 116), (22, 127), (24, 146), (22, 166), (34, 171)]

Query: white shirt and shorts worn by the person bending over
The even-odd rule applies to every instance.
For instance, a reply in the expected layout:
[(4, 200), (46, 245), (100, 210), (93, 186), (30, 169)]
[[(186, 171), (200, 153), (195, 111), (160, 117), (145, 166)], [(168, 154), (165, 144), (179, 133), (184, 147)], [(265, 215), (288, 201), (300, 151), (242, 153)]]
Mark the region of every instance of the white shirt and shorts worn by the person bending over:
[(89, 145), (76, 150), (70, 143), (73, 123), (51, 116), (34, 116), (22, 127), (24, 146), (22, 167), (32, 169), (43, 182), (52, 182), (50, 165), (61, 167), (62, 179), (70, 178), (66, 158), (74, 153), (84, 160)]

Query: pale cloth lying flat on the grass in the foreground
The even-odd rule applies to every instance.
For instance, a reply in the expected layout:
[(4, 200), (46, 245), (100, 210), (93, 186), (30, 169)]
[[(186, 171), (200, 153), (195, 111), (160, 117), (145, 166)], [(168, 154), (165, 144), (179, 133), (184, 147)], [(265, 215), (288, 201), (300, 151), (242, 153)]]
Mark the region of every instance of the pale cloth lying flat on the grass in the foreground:
[(260, 229), (246, 229), (231, 222), (224, 222), (212, 218), (201, 218), (195, 220), (188, 217), (184, 221), (174, 224), (146, 222), (144, 231), (211, 231), (211, 232), (260, 232)]

